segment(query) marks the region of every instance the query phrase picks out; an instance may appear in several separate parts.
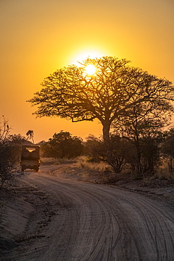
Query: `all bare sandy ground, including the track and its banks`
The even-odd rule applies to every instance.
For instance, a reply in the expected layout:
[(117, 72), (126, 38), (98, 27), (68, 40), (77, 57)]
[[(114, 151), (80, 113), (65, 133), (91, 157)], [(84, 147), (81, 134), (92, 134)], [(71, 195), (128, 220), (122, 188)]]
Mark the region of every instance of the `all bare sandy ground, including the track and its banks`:
[(1, 190), (0, 260), (173, 261), (173, 184), (102, 178), (49, 165)]

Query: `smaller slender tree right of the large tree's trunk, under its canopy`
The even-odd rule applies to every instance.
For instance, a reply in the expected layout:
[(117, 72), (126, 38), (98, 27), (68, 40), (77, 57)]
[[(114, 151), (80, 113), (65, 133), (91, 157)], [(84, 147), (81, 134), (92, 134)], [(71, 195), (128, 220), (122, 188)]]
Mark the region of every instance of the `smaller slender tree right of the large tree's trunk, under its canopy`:
[[(135, 146), (137, 174), (141, 176), (147, 171), (154, 174), (154, 167), (159, 162), (161, 128), (170, 124), (173, 107), (154, 101), (134, 106), (131, 111), (128, 116), (120, 117), (120, 121), (116, 121), (113, 128), (117, 134), (128, 138)], [(132, 164), (135, 166), (135, 161)]]

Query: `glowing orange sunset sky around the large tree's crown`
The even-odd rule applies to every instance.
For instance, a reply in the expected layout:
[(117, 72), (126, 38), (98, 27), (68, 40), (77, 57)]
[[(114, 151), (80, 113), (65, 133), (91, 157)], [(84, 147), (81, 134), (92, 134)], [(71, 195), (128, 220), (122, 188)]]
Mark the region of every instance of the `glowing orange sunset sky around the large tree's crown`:
[(87, 56), (128, 59), (174, 83), (173, 0), (0, 0), (0, 122), (48, 141), (61, 130), (85, 140), (98, 121), (36, 118), (28, 99), (59, 68)]

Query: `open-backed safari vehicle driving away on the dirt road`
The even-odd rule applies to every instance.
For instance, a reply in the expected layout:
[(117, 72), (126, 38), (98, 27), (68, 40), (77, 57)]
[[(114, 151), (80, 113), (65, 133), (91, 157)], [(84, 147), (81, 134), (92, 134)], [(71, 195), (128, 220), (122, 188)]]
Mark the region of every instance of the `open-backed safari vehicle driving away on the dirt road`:
[(34, 169), (39, 171), (40, 156), (39, 156), (39, 146), (38, 145), (23, 145), (21, 153), (21, 171), (25, 169)]

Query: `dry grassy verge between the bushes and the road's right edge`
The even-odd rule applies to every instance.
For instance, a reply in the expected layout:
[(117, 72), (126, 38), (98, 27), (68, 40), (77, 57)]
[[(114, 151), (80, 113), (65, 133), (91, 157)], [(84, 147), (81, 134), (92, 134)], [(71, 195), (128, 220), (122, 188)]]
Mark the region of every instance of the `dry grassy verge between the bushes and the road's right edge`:
[[(125, 169), (122, 173), (116, 174), (111, 166), (104, 163), (87, 162), (86, 159), (86, 157), (78, 157), (73, 161), (69, 159), (61, 161), (42, 159), (42, 164), (48, 164), (50, 175), (88, 183), (116, 186), (123, 190), (130, 190), (151, 198), (157, 198), (160, 201), (164, 200), (174, 207), (174, 175), (169, 173), (167, 162), (161, 166), (155, 175), (137, 178), (136, 174), (132, 173), (130, 169)], [(49, 165), (50, 162), (54, 165)], [(53, 171), (50, 171), (51, 166), (54, 166)]]

